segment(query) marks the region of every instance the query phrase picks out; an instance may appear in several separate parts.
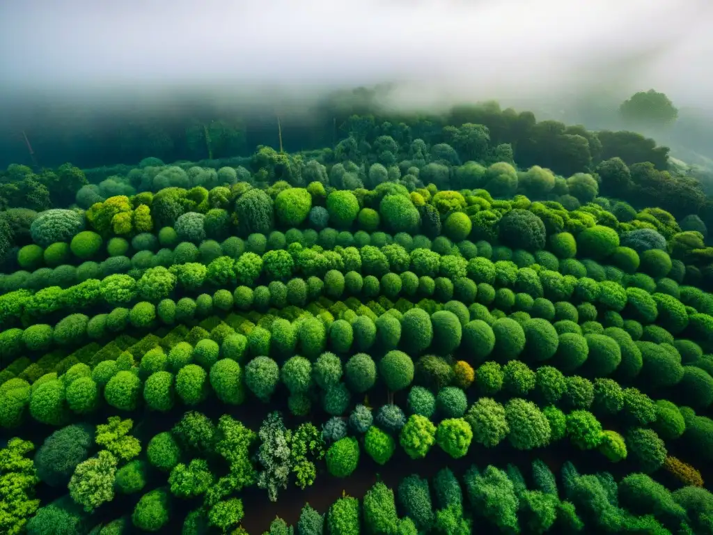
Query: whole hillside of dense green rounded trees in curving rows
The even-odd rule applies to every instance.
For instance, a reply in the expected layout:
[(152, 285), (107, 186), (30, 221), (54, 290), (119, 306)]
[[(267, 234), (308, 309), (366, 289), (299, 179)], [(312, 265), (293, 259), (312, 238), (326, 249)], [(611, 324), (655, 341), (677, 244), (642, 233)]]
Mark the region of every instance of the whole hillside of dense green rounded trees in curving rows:
[[(635, 134), (487, 106), (343, 129), (2, 175), (0, 531), (711, 532), (699, 186)], [(558, 482), (548, 448), (617, 479)], [(299, 518), (242, 501), (474, 455)]]

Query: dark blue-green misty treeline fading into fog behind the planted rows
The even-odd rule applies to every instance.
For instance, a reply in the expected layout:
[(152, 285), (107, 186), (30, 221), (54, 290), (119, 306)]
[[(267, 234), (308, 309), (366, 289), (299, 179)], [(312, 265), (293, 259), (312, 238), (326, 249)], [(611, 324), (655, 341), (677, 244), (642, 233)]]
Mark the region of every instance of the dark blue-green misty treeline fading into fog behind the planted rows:
[[(53, 168), (71, 161), (80, 168), (117, 163), (136, 164), (155, 156), (163, 161), (200, 161), (230, 156), (250, 156), (259, 145), (297, 152), (332, 147), (354, 135), (353, 115), (373, 116), (374, 126), (384, 121), (404, 131), (404, 136), (426, 143), (446, 125), (463, 123), (488, 127), (494, 145), (510, 143), (519, 165), (549, 165), (571, 174), (598, 161), (620, 156), (627, 163), (650, 161), (665, 170), (668, 149), (632, 133), (600, 133), (558, 121), (536, 121), (533, 113), (503, 110), (498, 103), (455, 106), (447, 113), (396, 114), (380, 103), (389, 87), (357, 88), (335, 92), (312, 108), (295, 111), (239, 111), (237, 108), (175, 106), (170, 113), (93, 113), (60, 118), (47, 110), (32, 120), (15, 121), (0, 132), (0, 165), (22, 163)], [(404, 127), (401, 127), (401, 124)], [(404, 128), (408, 128), (406, 133)], [(369, 137), (369, 126), (364, 126)], [(553, 143), (557, 138), (558, 143)], [(396, 140), (396, 141), (406, 141)], [(546, 146), (546, 147), (545, 147)], [(570, 160), (562, 168), (558, 162)]]

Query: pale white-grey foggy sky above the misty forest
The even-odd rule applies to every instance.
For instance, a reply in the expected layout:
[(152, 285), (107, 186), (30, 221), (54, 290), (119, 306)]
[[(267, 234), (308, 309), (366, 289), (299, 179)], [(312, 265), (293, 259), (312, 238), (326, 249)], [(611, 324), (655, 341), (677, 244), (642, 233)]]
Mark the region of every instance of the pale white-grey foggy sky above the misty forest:
[[(4, 0), (0, 106), (407, 81), (398, 103), (656, 88), (710, 107), (710, 0)], [(150, 101), (153, 102), (153, 101)], [(0, 118), (1, 121), (1, 118)]]

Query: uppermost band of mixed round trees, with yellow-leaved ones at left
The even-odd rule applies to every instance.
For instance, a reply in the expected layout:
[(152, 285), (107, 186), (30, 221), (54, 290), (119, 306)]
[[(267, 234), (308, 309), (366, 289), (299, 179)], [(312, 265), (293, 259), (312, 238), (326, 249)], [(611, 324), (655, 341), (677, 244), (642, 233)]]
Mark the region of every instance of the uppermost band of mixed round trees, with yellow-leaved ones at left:
[[(324, 165), (313, 162), (321, 168), (325, 182), (313, 181), (307, 188), (290, 187), (284, 182), (275, 183), (265, 190), (254, 188), (248, 183), (235, 182), (235, 169), (222, 168), (217, 176), (230, 175), (233, 179), (228, 177), (226, 185), (211, 190), (202, 186), (191, 189), (169, 187), (155, 194), (144, 192), (131, 197), (97, 197), (96, 202), (85, 205), (88, 208), (86, 212), (53, 209), (36, 213), (24, 208), (11, 208), (0, 213), (0, 247), (4, 251), (5, 270), (34, 270), (43, 265), (58, 267), (76, 260), (106, 258), (106, 253), (103, 253), (105, 240), (108, 240), (107, 252), (110, 255), (127, 254), (130, 240), (131, 248), (136, 253), (143, 253), (143, 256), (159, 247), (162, 254), (168, 255), (165, 249), (175, 248), (179, 242), (195, 246), (205, 243), (205, 248), (220, 250), (218, 240), (226, 240), (235, 234), (243, 239), (250, 238), (247, 248), (257, 249), (253, 252), (258, 253), (265, 248), (284, 248), (294, 241), (303, 245), (319, 243), (330, 249), (337, 244), (366, 245), (371, 238), (367, 239), (364, 231), (376, 231), (374, 245), (377, 238), (384, 242), (383, 245), (393, 239), (391, 235), (384, 235), (386, 231), (394, 233), (395, 238), (407, 233), (423, 233), (429, 239), (445, 235), (456, 243), (466, 238), (472, 241), (501, 238), (502, 245), (512, 246), (514, 242), (508, 233), (500, 235), (500, 228), (505, 223), (500, 220), (506, 215), (510, 218), (508, 212), (513, 209), (535, 213), (537, 218), (543, 220), (549, 234), (563, 230), (576, 234), (581, 228), (595, 223), (610, 226), (619, 233), (652, 228), (667, 239), (672, 238), (671, 233), (682, 230), (700, 233), (699, 236), (682, 236), (678, 243), (686, 244), (687, 250), (701, 250), (704, 253), (702, 260), (707, 260), (704, 245), (707, 226), (697, 215), (691, 215), (704, 208), (704, 195), (690, 180), (670, 180), (650, 165), (635, 165), (629, 169), (621, 161), (606, 161), (597, 168), (599, 174), (596, 177), (601, 181), (600, 185), (597, 179), (585, 173), (565, 180), (538, 166), (518, 172), (507, 163), (495, 163), (486, 168), (469, 162), (456, 168), (453, 177), (448, 178), (450, 172), (445, 165), (429, 163), (421, 170), (407, 169), (416, 175), (424, 175), (427, 170), (428, 173), (435, 173), (429, 179), (429, 186), (416, 188), (418, 183), (405, 180), (409, 176), (419, 180), (416, 175), (407, 174), (398, 178), (400, 170), (394, 167), (396, 181), (389, 181), (386, 178), (390, 171), (376, 163), (369, 168), (369, 176), (378, 166), (383, 170), (383, 177), (375, 181), (374, 189), (358, 188), (352, 193), (335, 190), (329, 183), (352, 181), (361, 184), (359, 168), (349, 167), (354, 163), (334, 165), (330, 170), (334, 176), (328, 178)], [(272, 168), (274, 162), (265, 165), (267, 169), (272, 169), (266, 173), (275, 172)], [(441, 179), (436, 177), (439, 167), (446, 170), (443, 179), (446, 183), (441, 183)], [(168, 168), (171, 169), (174, 168)], [(461, 193), (438, 190), (434, 185), (438, 182), (442, 187), (448, 187), (449, 180), (462, 181), (462, 185), (476, 189), (462, 190)], [(534, 198), (546, 198), (548, 195), (545, 192), (556, 191), (554, 198), (557, 201), (532, 202), (524, 195), (516, 195), (512, 201), (498, 200), (493, 199), (488, 191), (477, 189), (480, 186), (501, 195), (513, 195), (523, 190), (532, 193)], [(646, 191), (654, 195), (664, 192), (667, 205), (674, 213), (689, 215), (680, 218), (679, 225), (674, 215), (660, 208), (637, 212), (627, 203), (611, 203), (606, 198), (597, 197), (600, 186), (622, 195), (635, 193), (640, 198), (647, 195)], [(702, 213), (705, 215), (705, 210)], [(535, 225), (533, 228), (540, 227), (537, 219), (530, 219)], [(299, 230), (299, 227), (307, 228)], [(283, 235), (276, 228), (287, 232)], [(351, 235), (349, 231), (356, 229), (361, 233)], [(340, 230), (343, 235), (339, 234)], [(402, 240), (407, 242), (408, 238)], [(33, 242), (33, 247), (19, 250)], [(245, 250), (242, 240), (230, 238), (230, 243), (229, 249), (235, 255)], [(540, 243), (533, 243), (524, 248), (533, 250), (542, 247)], [(166, 258), (161, 262), (170, 264), (171, 260)]]

